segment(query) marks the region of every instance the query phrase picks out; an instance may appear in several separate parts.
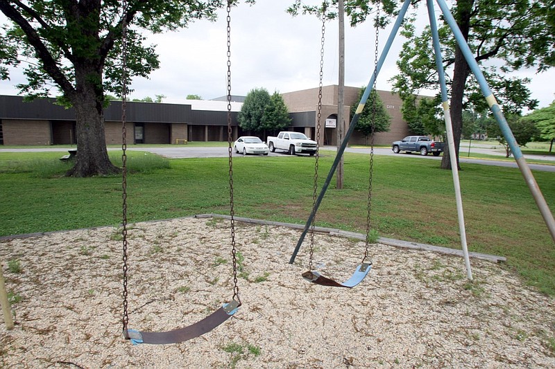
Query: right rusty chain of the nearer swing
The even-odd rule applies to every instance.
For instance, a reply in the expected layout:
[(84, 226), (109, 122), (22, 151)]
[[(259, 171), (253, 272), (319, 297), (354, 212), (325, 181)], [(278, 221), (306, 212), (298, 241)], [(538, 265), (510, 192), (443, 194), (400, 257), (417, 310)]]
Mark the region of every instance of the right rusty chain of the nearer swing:
[(237, 249), (235, 248), (235, 219), (233, 206), (233, 161), (232, 141), (233, 128), (231, 126), (231, 0), (228, 0), (228, 158), (230, 176), (230, 217), (231, 217), (231, 253), (233, 259), (233, 299), (241, 306), (239, 287), (237, 285)]

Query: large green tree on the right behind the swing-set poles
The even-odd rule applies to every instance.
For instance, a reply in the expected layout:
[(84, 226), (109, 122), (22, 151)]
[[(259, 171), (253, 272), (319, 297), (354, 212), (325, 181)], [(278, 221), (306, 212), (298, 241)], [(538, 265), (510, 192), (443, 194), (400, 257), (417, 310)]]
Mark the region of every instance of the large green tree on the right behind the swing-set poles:
[[(533, 109), (536, 100), (530, 99), (527, 79), (506, 78), (504, 73), (522, 67), (545, 71), (555, 65), (554, 25), (549, 23), (549, 12), (553, 14), (552, 0), (486, 1), (459, 0), (454, 3), (452, 14), (467, 40), (475, 60), (502, 62), (498, 69), (490, 67), (484, 76), (494, 91), (504, 111), (518, 114), (523, 107)], [(450, 85), (450, 111), (457, 152), (462, 132), (463, 109), (472, 103), (478, 110), (486, 109), (484, 98), (470, 67), (454, 42), (447, 25), (439, 25), (442, 55), (446, 71), (452, 71)], [(420, 89), (438, 89), (436, 65), (429, 28), (416, 35), (411, 23), (403, 30), (409, 39), (403, 46), (398, 60), (400, 75), (393, 78), (395, 91), (402, 98), (418, 93)], [(480, 103), (482, 102), (482, 103)], [(442, 168), (450, 168), (449, 153), (445, 152)]]

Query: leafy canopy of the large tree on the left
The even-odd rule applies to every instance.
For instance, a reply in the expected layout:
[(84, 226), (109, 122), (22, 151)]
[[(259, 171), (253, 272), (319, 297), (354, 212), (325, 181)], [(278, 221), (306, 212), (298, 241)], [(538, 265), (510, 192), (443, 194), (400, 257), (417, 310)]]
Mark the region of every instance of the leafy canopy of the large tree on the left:
[[(148, 78), (159, 67), (153, 45), (144, 44), (140, 30), (162, 33), (187, 27), (195, 19), (216, 17), (223, 1), (0, 1), (0, 10), (12, 24), (4, 30), (0, 50), (3, 64), (26, 62), (28, 83), (18, 87), (31, 96), (48, 96), (56, 87), (71, 100), (79, 93), (83, 64), (97, 88), (121, 94), (121, 24), (128, 27), (127, 74)], [(8, 75), (4, 75), (8, 78)]]

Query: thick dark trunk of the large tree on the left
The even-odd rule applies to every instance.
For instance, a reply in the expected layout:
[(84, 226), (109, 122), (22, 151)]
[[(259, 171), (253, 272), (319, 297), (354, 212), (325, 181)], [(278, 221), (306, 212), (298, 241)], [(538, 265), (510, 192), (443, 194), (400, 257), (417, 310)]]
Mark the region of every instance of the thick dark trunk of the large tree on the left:
[(96, 65), (76, 66), (77, 91), (70, 100), (76, 112), (77, 155), (74, 168), (67, 172), (69, 176), (92, 177), (119, 172), (110, 162), (106, 149), (100, 71)]

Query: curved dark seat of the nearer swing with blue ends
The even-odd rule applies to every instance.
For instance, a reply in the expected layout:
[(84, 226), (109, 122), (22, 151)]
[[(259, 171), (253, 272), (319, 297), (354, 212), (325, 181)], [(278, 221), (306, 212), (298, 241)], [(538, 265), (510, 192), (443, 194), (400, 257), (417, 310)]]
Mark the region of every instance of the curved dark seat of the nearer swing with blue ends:
[(152, 345), (180, 343), (202, 336), (206, 332), (210, 332), (235, 314), (240, 305), (241, 304), (236, 300), (232, 300), (231, 303), (223, 305), (202, 321), (198, 321), (197, 323), (178, 330), (170, 330), (167, 332), (139, 332), (137, 330), (127, 330), (127, 332), (123, 332), (123, 336), (125, 336), (126, 339), (130, 339), (133, 345), (138, 345), (139, 343), (150, 343)]

